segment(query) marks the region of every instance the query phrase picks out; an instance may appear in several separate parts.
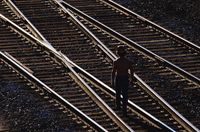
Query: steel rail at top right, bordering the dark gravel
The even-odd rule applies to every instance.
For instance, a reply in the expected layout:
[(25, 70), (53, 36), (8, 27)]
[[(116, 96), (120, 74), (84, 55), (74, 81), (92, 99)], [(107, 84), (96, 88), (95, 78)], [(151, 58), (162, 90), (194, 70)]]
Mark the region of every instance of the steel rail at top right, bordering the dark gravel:
[(188, 41), (188, 40), (186, 40), (186, 39), (180, 37), (179, 35), (177, 35), (177, 34), (171, 32), (171, 31), (169, 31), (169, 30), (167, 30), (167, 29), (165, 29), (165, 28), (163, 28), (163, 27), (157, 25), (156, 23), (154, 23), (154, 22), (152, 22), (152, 21), (150, 21), (150, 20), (148, 20), (148, 19), (146, 19), (146, 18), (140, 16), (139, 14), (137, 14), (137, 13), (135, 13), (135, 12), (133, 12), (133, 11), (131, 11), (131, 10), (129, 10), (129, 9), (125, 8), (125, 7), (123, 7), (122, 5), (116, 3), (116, 2), (114, 2), (114, 1), (112, 1), (112, 0), (100, 0), (100, 1), (109, 4), (109, 5), (112, 6), (113, 8), (122, 11), (122, 12), (125, 13), (126, 15), (134, 16), (134, 17), (136, 17), (136, 18), (142, 20), (143, 22), (145, 22), (145, 23), (147, 23), (147, 24), (149, 24), (149, 25), (151, 25), (151, 26), (153, 26), (153, 27), (156, 27), (157, 29), (159, 29), (159, 30), (162, 31), (163, 33), (165, 33), (165, 34), (167, 34), (167, 35), (169, 35), (169, 36), (175, 37), (175, 38), (178, 39), (179, 41), (186, 43), (186, 44), (187, 44), (186, 46), (192, 47), (194, 50), (200, 52), (200, 46), (198, 46), (198, 45), (196, 45), (196, 44), (194, 44), (194, 43), (192, 43), (192, 42), (190, 42), (190, 41)]

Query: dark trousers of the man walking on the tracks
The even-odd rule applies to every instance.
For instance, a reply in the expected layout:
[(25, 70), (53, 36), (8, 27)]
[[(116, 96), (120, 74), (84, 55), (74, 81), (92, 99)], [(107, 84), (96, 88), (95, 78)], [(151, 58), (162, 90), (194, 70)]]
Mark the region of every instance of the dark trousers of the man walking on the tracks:
[[(115, 79), (115, 90), (116, 90), (116, 106), (120, 108), (121, 102), (123, 107), (123, 113), (127, 114), (128, 104), (128, 76), (117, 76)], [(121, 98), (122, 95), (122, 98)]]

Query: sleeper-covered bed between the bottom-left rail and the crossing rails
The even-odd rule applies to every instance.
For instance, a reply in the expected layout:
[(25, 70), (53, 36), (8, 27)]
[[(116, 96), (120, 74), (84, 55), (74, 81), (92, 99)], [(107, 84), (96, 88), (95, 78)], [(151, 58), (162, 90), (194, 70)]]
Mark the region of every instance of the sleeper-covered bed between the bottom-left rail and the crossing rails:
[[(34, 71), (34, 75), (106, 129), (120, 128), (47, 53), (1, 26), (1, 51), (6, 51)], [(101, 117), (101, 118), (99, 118)], [(103, 118), (102, 118), (103, 117)], [(106, 119), (106, 120), (105, 120)], [(107, 122), (107, 123), (106, 123)], [(104, 124), (104, 125), (103, 125)], [(110, 128), (110, 129), (109, 129)]]

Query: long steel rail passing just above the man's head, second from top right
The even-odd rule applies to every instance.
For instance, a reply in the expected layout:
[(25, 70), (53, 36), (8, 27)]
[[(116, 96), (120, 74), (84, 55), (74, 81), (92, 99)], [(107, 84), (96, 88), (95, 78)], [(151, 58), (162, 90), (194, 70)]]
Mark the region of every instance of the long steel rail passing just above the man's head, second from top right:
[(184, 78), (186, 78), (186, 79), (190, 80), (191, 82), (195, 83), (196, 85), (200, 86), (200, 78), (192, 75), (191, 73), (183, 70), (182, 68), (180, 68), (180, 67), (174, 65), (173, 63), (167, 61), (166, 59), (158, 56), (157, 54), (153, 53), (152, 51), (150, 51), (150, 50), (144, 48), (143, 46), (137, 44), (136, 42), (130, 40), (129, 38), (121, 35), (120, 33), (114, 31), (110, 27), (102, 24), (101, 22), (99, 22), (99, 21), (95, 20), (94, 18), (88, 16), (87, 14), (81, 12), (80, 10), (78, 10), (77, 8), (71, 6), (70, 4), (66, 3), (65, 1), (61, 1), (61, 3), (64, 6), (66, 6), (66, 8), (69, 8), (74, 13), (76, 13), (79, 16), (83, 17), (87, 21), (95, 24), (96, 26), (98, 26), (99, 28), (101, 28), (102, 30), (104, 30), (105, 32), (110, 34), (111, 36), (115, 37), (117, 40), (119, 40), (119, 41), (125, 43), (126, 45), (128, 45), (130, 48), (133, 48), (133, 49), (137, 50), (138, 52), (140, 52), (142, 54), (145, 54), (149, 58), (158, 61), (163, 66), (168, 67), (169, 69), (173, 70), (174, 72), (176, 72), (180, 76), (183, 76)]

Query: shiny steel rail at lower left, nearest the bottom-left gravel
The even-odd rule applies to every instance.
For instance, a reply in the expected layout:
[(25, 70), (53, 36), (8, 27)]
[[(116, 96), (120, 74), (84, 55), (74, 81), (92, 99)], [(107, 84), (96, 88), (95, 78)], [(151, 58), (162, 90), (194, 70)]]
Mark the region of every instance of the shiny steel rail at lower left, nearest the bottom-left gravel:
[(97, 131), (103, 131), (107, 132), (102, 126), (100, 126), (98, 123), (96, 123), (94, 120), (92, 120), (90, 117), (85, 115), (82, 111), (77, 109), (74, 105), (69, 103), (66, 99), (64, 99), (62, 96), (60, 96), (58, 93), (56, 93), (54, 90), (49, 88), (46, 84), (41, 82), (38, 78), (36, 78), (32, 73), (30, 73), (26, 68), (24, 68), (24, 65), (19, 63), (18, 60), (16, 60), (14, 57), (9, 55), (7, 52), (0, 51), (0, 57), (6, 61), (8, 64), (10, 64), (12, 67), (18, 70), (20, 74), (23, 74), (25, 77), (27, 77), (31, 82), (39, 86), (39, 88), (45, 90), (47, 94), (57, 101), (59, 101), (62, 105), (73, 111), (76, 115), (78, 115), (81, 119), (83, 119), (88, 124), (92, 125), (92, 127)]

